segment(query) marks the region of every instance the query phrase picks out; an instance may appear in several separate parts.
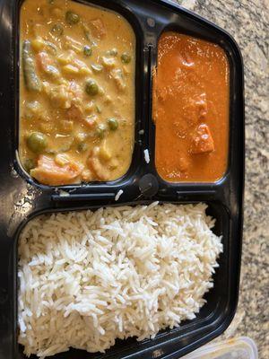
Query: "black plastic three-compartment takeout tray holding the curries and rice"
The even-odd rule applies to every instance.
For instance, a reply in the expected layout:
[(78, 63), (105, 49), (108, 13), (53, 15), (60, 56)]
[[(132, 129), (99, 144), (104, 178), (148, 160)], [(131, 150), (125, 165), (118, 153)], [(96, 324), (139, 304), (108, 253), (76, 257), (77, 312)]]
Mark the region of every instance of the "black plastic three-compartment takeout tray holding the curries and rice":
[[(216, 218), (214, 232), (223, 236), (224, 251), (214, 275), (214, 287), (197, 318), (180, 328), (164, 330), (153, 340), (118, 341), (105, 355), (71, 349), (56, 359), (178, 358), (219, 336), (236, 311), (242, 239), (244, 187), (244, 84), (239, 48), (230, 35), (211, 22), (164, 0), (89, 0), (123, 14), (136, 33), (136, 122), (133, 162), (126, 175), (113, 182), (61, 187), (39, 185), (22, 170), (17, 156), (19, 108), (19, 0), (0, 0), (0, 359), (22, 359), (17, 344), (17, 242), (30, 218), (44, 212), (161, 202), (206, 202)], [(154, 167), (155, 128), (152, 122), (152, 69), (158, 39), (174, 30), (218, 43), (230, 62), (230, 152), (225, 176), (215, 183), (167, 183)], [(139, 135), (143, 129), (144, 135)], [(151, 162), (144, 161), (148, 149)], [(150, 175), (149, 175), (150, 174)], [(147, 175), (146, 177), (144, 177)], [(34, 356), (32, 356), (34, 357)]]

